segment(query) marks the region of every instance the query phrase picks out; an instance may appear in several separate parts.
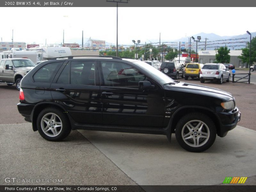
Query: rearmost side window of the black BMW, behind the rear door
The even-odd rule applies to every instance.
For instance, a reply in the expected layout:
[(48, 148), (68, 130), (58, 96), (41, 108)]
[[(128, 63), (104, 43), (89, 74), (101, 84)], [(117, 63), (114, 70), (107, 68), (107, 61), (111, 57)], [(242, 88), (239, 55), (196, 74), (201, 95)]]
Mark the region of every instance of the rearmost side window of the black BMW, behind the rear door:
[(37, 83), (52, 83), (54, 76), (59, 70), (62, 62), (48, 63), (36, 71), (33, 79)]

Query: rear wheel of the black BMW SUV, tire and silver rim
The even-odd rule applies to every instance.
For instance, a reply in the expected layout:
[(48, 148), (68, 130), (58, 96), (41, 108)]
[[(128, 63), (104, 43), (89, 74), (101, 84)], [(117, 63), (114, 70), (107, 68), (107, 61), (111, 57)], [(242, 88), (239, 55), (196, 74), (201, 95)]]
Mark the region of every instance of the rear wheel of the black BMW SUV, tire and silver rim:
[(71, 132), (68, 117), (57, 108), (43, 109), (37, 117), (36, 125), (40, 135), (49, 141), (63, 140)]

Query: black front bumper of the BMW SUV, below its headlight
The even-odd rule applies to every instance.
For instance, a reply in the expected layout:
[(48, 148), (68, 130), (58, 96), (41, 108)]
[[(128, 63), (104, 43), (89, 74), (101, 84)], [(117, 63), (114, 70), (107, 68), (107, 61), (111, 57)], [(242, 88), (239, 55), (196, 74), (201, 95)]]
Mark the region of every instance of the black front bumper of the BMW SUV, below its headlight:
[(235, 108), (229, 112), (217, 113), (220, 118), (220, 129), (217, 131), (217, 135), (225, 137), (228, 131), (234, 129), (236, 124), (240, 121), (241, 113), (238, 108)]

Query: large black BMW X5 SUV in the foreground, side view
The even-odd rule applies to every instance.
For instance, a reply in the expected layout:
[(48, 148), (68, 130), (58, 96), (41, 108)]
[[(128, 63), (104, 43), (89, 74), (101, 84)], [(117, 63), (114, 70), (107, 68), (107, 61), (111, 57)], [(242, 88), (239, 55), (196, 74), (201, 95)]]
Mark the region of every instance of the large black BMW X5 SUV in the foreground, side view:
[(181, 147), (201, 152), (236, 127), (234, 97), (172, 80), (138, 60), (98, 56), (51, 59), (20, 84), (18, 110), (33, 131), (59, 141), (71, 130), (175, 133)]

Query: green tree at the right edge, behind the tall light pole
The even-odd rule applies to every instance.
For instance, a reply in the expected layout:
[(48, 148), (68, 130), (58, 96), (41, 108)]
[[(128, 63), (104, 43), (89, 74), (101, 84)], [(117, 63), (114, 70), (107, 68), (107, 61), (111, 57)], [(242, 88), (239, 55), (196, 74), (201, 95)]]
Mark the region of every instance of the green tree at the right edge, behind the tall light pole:
[[(249, 63), (250, 59), (250, 43), (246, 45), (246, 48), (242, 49), (241, 56), (238, 56), (243, 63)], [(252, 47), (251, 47), (251, 63), (256, 61), (256, 38), (252, 38)], [(250, 64), (251, 66), (251, 64)]]

